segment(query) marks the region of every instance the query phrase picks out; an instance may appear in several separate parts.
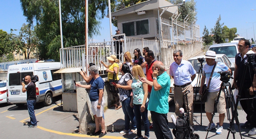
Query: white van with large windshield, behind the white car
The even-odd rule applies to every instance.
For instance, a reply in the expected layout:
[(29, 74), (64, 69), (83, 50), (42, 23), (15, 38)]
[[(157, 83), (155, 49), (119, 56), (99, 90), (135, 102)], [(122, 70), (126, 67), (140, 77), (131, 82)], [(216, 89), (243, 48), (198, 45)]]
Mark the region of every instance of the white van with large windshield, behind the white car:
[(238, 43), (214, 44), (209, 47), (209, 50), (216, 52), (216, 54), (225, 54), (234, 63), (236, 54), (238, 53)]

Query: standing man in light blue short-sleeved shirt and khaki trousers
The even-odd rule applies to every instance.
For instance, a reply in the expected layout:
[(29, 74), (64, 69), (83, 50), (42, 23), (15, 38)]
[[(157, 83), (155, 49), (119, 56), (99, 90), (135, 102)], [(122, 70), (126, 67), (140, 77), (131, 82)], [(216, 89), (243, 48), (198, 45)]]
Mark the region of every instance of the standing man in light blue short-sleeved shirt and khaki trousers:
[[(191, 126), (194, 126), (193, 120), (193, 87), (191, 82), (196, 77), (196, 71), (192, 64), (188, 61), (182, 59), (182, 51), (175, 50), (173, 52), (174, 62), (170, 65), (169, 74), (174, 79), (174, 102), (175, 102), (175, 114), (177, 116), (182, 116), (179, 109), (183, 106), (183, 101), (185, 102), (186, 110), (189, 110), (189, 121)], [(191, 76), (192, 75), (192, 76)], [(186, 94), (187, 93), (187, 99)], [(188, 101), (188, 102), (187, 102)], [(187, 108), (187, 103), (188, 107)]]

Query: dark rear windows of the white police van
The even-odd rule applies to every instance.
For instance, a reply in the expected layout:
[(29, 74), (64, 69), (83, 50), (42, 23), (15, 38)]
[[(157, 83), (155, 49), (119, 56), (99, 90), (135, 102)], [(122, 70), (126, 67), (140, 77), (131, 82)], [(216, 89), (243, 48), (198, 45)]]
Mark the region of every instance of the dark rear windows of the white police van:
[(33, 72), (18, 72), (9, 74), (9, 86), (21, 86), (26, 75), (33, 75)]

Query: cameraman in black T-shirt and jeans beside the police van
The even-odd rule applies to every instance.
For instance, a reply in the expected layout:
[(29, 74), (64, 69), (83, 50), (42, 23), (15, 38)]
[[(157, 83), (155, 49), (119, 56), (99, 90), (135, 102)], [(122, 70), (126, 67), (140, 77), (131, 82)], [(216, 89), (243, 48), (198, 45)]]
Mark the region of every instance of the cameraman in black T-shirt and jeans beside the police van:
[[(25, 84), (27, 85), (25, 87)], [(28, 75), (25, 77), (25, 83), (22, 82), (22, 92), (27, 93), (27, 106), (30, 116), (30, 123), (28, 128), (37, 127), (36, 115), (34, 107), (36, 105), (36, 85), (31, 82), (31, 77)]]

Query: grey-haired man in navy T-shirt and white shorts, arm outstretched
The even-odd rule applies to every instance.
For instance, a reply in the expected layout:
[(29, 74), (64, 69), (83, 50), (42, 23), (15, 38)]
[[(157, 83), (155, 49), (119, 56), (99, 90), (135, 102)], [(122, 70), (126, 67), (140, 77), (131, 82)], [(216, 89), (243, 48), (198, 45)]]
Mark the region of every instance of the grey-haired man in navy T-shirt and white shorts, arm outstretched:
[[(105, 130), (105, 121), (102, 118), (104, 111), (104, 98), (103, 98), (103, 89), (104, 89), (104, 81), (99, 75), (99, 70), (95, 65), (92, 65), (89, 68), (91, 72), (91, 76), (94, 78), (94, 82), (89, 85), (76, 84), (77, 87), (83, 87), (86, 89), (91, 89), (89, 93), (89, 98), (91, 101), (91, 110), (93, 112), (93, 116), (95, 118), (96, 129), (92, 135), (99, 134), (99, 138), (103, 137), (107, 134)], [(102, 131), (100, 131), (100, 125)]]

